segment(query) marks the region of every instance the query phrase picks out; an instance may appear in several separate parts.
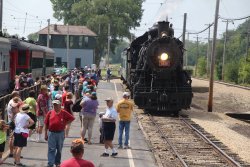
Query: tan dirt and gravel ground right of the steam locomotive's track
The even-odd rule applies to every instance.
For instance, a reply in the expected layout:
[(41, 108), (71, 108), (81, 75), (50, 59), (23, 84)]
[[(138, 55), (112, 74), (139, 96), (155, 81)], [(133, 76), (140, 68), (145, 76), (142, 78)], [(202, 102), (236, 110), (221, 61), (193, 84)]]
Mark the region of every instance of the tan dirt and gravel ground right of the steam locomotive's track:
[(208, 81), (192, 79), (194, 97), (189, 117), (250, 164), (250, 124), (226, 113), (250, 114), (250, 90), (214, 84), (213, 112), (207, 112)]

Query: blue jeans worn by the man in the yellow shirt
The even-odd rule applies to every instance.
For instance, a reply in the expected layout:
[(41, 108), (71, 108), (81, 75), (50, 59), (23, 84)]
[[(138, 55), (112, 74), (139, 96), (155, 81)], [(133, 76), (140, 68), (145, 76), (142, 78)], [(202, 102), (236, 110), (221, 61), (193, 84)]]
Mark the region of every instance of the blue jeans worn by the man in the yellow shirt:
[(120, 146), (122, 146), (122, 134), (123, 134), (124, 129), (125, 129), (125, 143), (124, 143), (124, 145), (128, 146), (130, 121), (119, 121), (118, 143)]

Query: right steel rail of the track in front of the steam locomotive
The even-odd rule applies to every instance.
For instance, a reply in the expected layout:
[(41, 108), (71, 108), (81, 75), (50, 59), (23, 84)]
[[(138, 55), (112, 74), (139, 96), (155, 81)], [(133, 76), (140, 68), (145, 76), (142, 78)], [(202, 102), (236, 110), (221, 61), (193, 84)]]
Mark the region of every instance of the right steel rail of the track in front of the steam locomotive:
[(193, 129), (200, 137), (202, 137), (205, 141), (207, 141), (213, 148), (218, 151), (221, 155), (223, 155), (224, 158), (226, 158), (227, 161), (229, 161), (231, 164), (237, 167), (241, 167), (241, 165), (236, 162), (232, 157), (227, 155), (222, 149), (220, 149), (218, 146), (216, 146), (211, 140), (209, 140), (202, 132), (200, 132), (198, 129), (196, 129), (193, 125), (189, 124), (185, 118), (180, 116), (180, 120), (182, 120), (188, 127)]

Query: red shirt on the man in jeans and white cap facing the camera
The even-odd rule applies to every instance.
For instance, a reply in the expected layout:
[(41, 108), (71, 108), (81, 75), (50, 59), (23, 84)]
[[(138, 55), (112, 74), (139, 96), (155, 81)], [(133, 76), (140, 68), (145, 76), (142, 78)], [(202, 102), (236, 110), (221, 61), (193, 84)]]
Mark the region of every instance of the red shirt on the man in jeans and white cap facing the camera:
[(49, 131), (63, 131), (66, 124), (74, 119), (67, 111), (61, 110), (61, 112), (56, 113), (55, 110), (51, 110), (46, 115), (44, 123), (47, 125)]

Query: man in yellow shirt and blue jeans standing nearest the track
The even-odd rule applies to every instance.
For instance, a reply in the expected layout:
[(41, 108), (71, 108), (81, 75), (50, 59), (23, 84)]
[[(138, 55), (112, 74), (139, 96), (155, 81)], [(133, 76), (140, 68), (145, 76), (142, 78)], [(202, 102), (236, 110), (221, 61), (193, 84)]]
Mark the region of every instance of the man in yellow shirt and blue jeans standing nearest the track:
[(130, 129), (130, 120), (132, 116), (134, 103), (129, 100), (129, 93), (123, 93), (123, 99), (120, 100), (117, 104), (116, 110), (119, 115), (119, 137), (118, 137), (118, 148), (123, 148), (122, 146), (122, 135), (125, 129), (125, 143), (124, 148), (129, 148), (129, 129)]

